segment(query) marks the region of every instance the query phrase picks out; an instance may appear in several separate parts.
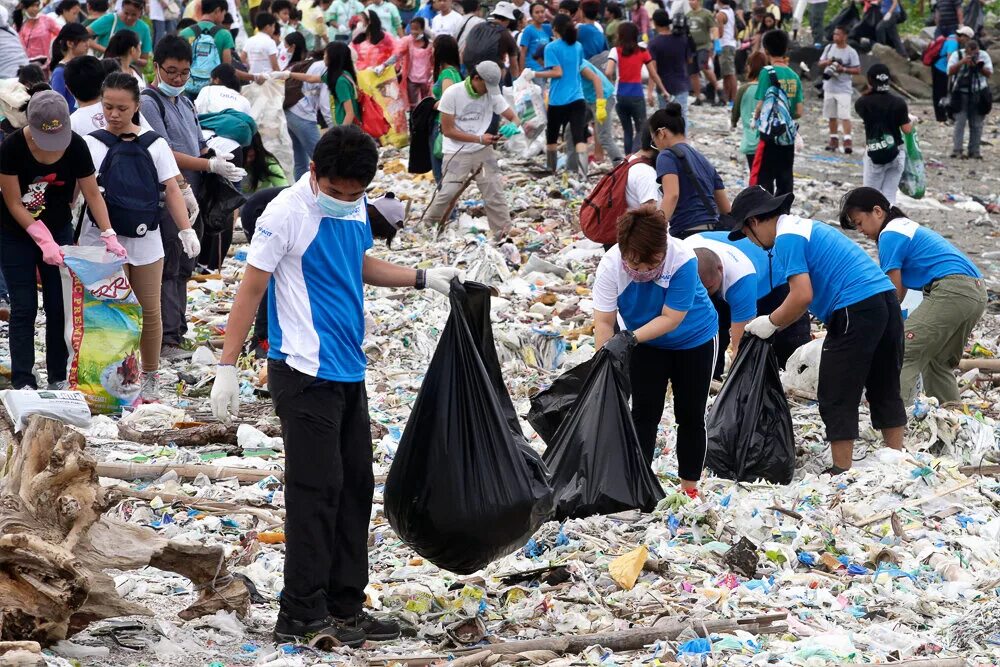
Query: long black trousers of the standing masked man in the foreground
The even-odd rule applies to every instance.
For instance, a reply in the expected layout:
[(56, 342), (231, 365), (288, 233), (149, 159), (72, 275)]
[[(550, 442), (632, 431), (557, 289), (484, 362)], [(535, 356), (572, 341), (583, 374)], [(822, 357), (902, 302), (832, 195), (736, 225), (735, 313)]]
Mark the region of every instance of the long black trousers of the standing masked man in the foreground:
[(267, 362), (285, 439), (281, 610), (312, 621), (359, 611), (368, 585), (371, 427), (364, 382), (330, 382)]

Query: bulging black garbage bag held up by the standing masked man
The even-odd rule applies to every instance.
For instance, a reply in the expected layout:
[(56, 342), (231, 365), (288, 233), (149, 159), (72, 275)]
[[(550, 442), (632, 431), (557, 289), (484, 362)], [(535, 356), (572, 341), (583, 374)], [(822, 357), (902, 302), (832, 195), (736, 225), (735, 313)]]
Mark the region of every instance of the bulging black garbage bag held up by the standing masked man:
[(500, 375), (489, 288), (456, 279), (450, 300), (386, 479), (385, 513), (418, 554), (469, 574), (524, 546), (553, 501)]

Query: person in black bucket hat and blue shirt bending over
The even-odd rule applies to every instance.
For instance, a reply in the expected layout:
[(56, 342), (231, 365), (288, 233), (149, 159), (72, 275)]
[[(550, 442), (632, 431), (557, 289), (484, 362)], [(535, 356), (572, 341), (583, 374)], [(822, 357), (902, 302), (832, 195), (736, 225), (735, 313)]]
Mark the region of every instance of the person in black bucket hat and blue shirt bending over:
[(862, 392), (872, 426), (886, 445), (903, 448), (903, 316), (892, 283), (864, 250), (825, 223), (789, 215), (792, 199), (759, 186), (743, 190), (733, 201), (729, 238), (773, 252), (788, 279), (784, 302), (752, 320), (747, 333), (770, 338), (807, 309), (826, 325), (817, 398), (833, 455), (827, 472), (840, 474), (851, 467)]

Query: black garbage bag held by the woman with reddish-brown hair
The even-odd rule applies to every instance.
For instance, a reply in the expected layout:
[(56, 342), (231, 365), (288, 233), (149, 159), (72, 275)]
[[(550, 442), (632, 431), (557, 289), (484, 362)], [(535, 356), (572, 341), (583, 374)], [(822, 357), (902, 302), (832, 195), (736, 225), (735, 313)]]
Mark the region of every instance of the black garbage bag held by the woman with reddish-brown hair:
[(639, 450), (628, 407), (628, 360), (600, 350), (589, 365), (590, 375), (545, 450), (556, 519), (652, 511), (663, 488)]

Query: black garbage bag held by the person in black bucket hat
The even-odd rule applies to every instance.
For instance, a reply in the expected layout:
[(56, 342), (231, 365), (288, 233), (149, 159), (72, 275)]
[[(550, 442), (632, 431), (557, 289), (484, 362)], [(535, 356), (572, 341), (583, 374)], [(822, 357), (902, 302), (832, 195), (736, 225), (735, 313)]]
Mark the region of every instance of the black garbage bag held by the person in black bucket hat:
[(746, 335), (708, 413), (705, 467), (740, 482), (788, 484), (795, 472), (792, 413), (770, 341)]

